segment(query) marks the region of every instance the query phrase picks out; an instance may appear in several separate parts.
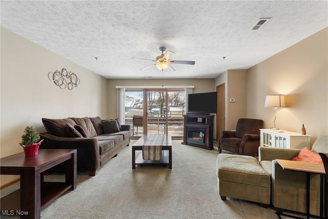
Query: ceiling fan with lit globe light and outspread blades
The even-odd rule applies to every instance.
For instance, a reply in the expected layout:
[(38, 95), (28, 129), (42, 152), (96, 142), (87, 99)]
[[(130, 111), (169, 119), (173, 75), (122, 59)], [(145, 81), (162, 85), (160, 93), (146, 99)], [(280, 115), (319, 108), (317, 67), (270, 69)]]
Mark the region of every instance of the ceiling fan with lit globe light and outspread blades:
[(167, 70), (169, 67), (171, 67), (175, 71), (175, 69), (170, 64), (195, 65), (194, 61), (173, 61), (173, 60), (170, 60), (170, 55), (169, 54), (171, 52), (172, 53), (175, 53), (175, 52), (170, 51), (170, 50), (166, 51), (165, 47), (159, 47), (159, 51), (161, 51), (162, 54), (158, 55), (155, 60), (147, 59), (147, 58), (132, 58), (132, 59), (144, 59), (144, 60), (150, 60), (152, 62), (156, 62), (155, 64), (152, 64), (152, 65), (147, 66), (145, 68), (141, 68), (140, 70), (144, 70), (144, 69), (150, 68), (152, 66), (156, 66), (159, 70), (162, 70), (162, 71)]

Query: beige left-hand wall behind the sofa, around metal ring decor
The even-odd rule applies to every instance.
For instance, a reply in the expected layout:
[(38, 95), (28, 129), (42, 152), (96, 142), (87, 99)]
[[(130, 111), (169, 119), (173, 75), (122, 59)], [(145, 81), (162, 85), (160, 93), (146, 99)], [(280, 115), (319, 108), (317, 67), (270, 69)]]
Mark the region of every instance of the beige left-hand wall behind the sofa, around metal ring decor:
[[(61, 90), (48, 72), (76, 73), (80, 85)], [(1, 157), (23, 152), (26, 126), (45, 131), (41, 118), (107, 115), (107, 79), (1, 27)], [(1, 185), (16, 176), (1, 176)]]

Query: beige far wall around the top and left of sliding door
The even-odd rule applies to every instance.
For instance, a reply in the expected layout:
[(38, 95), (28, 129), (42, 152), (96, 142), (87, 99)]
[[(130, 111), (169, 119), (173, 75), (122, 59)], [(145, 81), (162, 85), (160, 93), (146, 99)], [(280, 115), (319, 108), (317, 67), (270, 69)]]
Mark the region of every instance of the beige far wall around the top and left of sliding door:
[(214, 79), (108, 79), (108, 118), (117, 117), (116, 86), (195, 86), (194, 93), (215, 91)]

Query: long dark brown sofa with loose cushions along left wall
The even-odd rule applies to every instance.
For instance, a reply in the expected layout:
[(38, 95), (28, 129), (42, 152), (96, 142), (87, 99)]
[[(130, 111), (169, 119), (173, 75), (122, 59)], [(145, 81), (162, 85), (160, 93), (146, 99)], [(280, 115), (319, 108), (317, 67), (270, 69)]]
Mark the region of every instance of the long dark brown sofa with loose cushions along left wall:
[(130, 144), (130, 125), (120, 125), (117, 118), (42, 118), (42, 122), (47, 132), (40, 133), (44, 141), (39, 148), (77, 149), (77, 170), (90, 175)]

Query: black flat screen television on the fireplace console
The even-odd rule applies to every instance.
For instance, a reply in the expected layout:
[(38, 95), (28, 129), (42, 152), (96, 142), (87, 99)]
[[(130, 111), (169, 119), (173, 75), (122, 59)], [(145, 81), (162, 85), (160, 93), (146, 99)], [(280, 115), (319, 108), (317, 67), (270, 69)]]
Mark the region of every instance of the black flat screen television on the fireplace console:
[(188, 113), (216, 113), (217, 92), (188, 94)]

